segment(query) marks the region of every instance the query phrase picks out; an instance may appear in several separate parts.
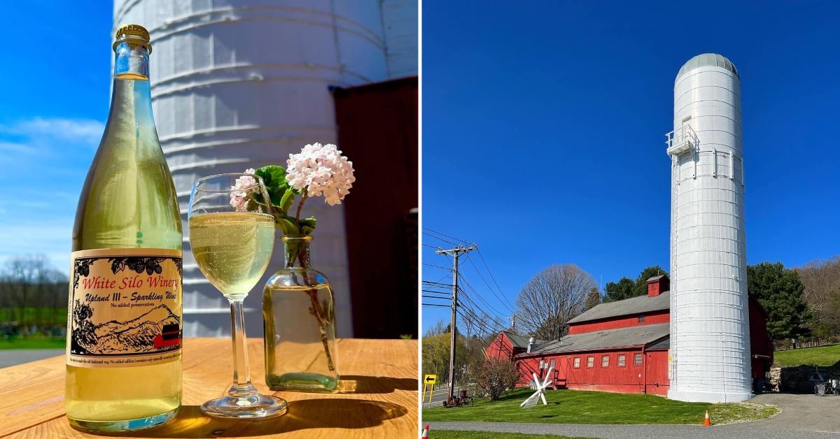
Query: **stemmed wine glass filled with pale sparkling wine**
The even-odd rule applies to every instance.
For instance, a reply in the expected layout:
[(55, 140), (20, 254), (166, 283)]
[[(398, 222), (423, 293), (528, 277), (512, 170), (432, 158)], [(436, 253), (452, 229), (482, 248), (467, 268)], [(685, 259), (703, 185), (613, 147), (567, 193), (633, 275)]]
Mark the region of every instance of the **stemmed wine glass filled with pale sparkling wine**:
[(219, 174), (196, 180), (190, 194), (190, 246), (198, 268), (230, 301), (234, 341), (234, 384), (228, 394), (202, 404), (202, 412), (223, 418), (284, 415), (286, 400), (260, 395), (248, 368), (242, 302), (268, 267), (274, 249), (274, 217), (258, 175)]

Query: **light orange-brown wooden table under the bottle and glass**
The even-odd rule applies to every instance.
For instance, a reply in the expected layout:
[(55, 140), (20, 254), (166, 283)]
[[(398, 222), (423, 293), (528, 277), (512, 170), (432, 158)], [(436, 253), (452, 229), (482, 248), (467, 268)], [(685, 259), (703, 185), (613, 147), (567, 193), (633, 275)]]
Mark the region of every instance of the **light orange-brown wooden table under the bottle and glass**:
[[(249, 338), (251, 379), (265, 386), (262, 339)], [(341, 388), (324, 395), (275, 392), (286, 415), (266, 421), (228, 421), (199, 406), (223, 395), (233, 376), (230, 340), (184, 340), (184, 399), (175, 420), (132, 437), (417, 437), (417, 340), (339, 340)], [(46, 439), (98, 437), (65, 418), (64, 356), (0, 368), (0, 436)]]

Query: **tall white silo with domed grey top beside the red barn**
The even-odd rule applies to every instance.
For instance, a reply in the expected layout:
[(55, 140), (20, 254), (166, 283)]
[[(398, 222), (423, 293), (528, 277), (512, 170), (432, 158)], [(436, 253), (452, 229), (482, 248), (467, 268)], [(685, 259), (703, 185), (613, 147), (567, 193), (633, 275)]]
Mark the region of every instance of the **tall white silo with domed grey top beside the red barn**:
[(743, 217), (741, 81), (702, 54), (674, 83), (671, 170), (671, 348), (668, 397), (752, 397)]

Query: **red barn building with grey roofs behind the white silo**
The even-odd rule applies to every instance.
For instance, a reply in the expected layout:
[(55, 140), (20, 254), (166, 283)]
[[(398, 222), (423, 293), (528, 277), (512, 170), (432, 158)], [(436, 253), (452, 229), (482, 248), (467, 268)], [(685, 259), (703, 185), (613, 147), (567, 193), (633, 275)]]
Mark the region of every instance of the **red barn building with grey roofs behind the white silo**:
[[(602, 303), (569, 321), (569, 335), (553, 341), (528, 340), (501, 332), (486, 349), (491, 358), (517, 362), (527, 386), (532, 374), (545, 379), (549, 368), (554, 388), (668, 395), (670, 348), (670, 280), (648, 280), (648, 295)], [(764, 380), (773, 361), (767, 314), (749, 298), (753, 384)]]

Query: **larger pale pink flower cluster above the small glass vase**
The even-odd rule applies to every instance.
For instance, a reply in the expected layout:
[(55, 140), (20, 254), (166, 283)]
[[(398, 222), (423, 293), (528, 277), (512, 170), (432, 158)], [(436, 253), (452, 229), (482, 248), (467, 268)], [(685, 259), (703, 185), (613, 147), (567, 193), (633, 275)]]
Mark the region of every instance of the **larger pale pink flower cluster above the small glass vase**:
[(323, 196), (330, 206), (341, 204), (356, 180), (353, 162), (334, 144), (307, 144), (300, 154), (289, 154), (286, 165), (291, 187), (307, 196)]

